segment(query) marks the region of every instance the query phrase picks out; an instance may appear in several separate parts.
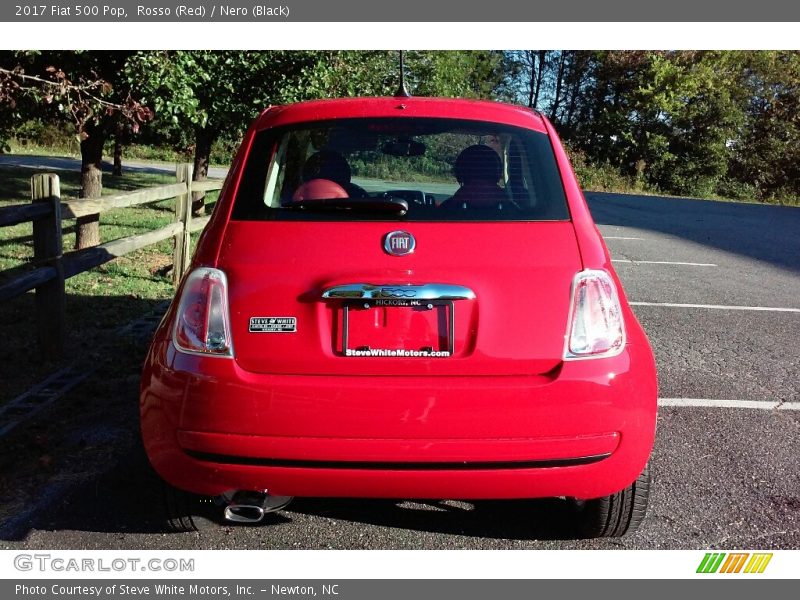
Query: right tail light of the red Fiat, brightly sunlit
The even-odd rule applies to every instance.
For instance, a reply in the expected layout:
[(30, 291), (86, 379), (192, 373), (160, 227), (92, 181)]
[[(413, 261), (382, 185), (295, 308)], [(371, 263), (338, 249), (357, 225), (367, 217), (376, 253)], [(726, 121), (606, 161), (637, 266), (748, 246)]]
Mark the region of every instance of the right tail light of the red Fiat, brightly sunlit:
[(624, 347), (625, 323), (614, 280), (605, 271), (581, 271), (572, 282), (564, 358), (605, 358)]

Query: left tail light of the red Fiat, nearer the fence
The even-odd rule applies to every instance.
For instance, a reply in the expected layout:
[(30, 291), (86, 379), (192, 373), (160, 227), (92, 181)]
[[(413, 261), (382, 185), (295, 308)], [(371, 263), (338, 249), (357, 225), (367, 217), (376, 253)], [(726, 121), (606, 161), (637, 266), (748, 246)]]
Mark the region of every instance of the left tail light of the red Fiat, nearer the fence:
[(181, 352), (233, 356), (225, 273), (202, 267), (189, 274), (172, 340)]

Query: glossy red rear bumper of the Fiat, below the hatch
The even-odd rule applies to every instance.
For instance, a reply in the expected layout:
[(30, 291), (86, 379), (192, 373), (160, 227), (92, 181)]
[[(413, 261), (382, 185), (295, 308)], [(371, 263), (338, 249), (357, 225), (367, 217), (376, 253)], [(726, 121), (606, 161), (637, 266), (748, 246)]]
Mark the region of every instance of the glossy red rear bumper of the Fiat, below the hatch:
[(206, 495), (598, 497), (641, 472), (655, 415), (631, 345), (546, 376), (400, 378), (253, 374), (164, 341), (141, 393), (156, 471)]

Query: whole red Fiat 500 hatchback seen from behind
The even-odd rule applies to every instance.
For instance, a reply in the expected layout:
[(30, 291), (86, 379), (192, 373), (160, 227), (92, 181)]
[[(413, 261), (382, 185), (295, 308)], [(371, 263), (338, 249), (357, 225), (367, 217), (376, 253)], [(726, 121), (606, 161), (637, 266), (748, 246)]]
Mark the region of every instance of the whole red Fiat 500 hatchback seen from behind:
[(452, 99), (265, 110), (141, 386), (182, 528), (292, 496), (558, 496), (582, 535), (622, 535), (655, 419), (652, 351), (552, 125)]

